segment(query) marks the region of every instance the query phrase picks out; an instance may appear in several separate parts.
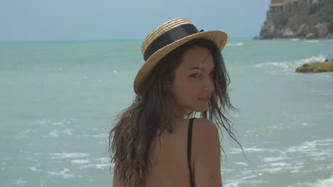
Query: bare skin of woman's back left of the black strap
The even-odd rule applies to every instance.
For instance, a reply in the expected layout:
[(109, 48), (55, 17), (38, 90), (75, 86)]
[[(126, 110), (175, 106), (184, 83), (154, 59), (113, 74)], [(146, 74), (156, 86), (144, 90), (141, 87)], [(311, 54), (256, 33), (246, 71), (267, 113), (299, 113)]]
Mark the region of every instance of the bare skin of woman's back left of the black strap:
[(190, 186), (187, 164), (187, 129), (189, 120), (176, 121), (174, 132), (164, 131), (154, 137), (149, 148), (147, 187)]

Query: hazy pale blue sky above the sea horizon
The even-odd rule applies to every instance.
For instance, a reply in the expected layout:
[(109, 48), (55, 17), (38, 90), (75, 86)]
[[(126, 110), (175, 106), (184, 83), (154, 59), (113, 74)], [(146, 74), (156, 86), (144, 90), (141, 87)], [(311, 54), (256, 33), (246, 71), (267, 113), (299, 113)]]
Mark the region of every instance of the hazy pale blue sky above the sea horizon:
[(270, 0), (0, 0), (0, 41), (144, 39), (172, 18), (259, 35)]

